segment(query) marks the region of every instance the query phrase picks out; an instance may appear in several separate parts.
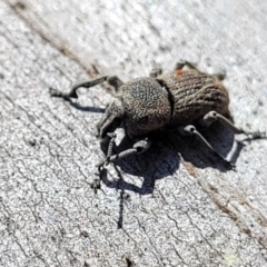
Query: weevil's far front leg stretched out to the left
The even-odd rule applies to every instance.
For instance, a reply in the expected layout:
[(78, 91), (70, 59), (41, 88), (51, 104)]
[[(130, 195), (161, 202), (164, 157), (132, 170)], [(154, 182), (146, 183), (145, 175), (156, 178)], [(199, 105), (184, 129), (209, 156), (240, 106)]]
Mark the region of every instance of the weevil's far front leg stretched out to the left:
[(110, 77), (103, 76), (101, 78), (98, 78), (98, 79), (95, 79), (91, 81), (78, 83), (78, 85), (73, 86), (71, 88), (70, 92), (68, 92), (68, 93), (63, 93), (53, 88), (50, 88), (50, 95), (51, 95), (51, 97), (59, 97), (59, 98), (63, 98), (65, 100), (70, 100), (70, 98), (78, 98), (77, 89), (79, 89), (80, 87), (90, 88), (90, 87), (95, 87), (99, 83), (102, 83), (103, 81), (107, 81), (109, 85), (113, 86), (116, 88), (116, 90), (123, 83), (117, 76), (110, 76)]

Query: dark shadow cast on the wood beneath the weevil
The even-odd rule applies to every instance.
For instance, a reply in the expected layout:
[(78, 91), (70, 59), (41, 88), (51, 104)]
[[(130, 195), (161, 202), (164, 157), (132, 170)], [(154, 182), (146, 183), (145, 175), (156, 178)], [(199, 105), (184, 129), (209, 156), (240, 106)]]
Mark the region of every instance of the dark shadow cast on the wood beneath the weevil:
[[(231, 151), (235, 136), (220, 123), (215, 122), (209, 128), (201, 130), (201, 134), (224, 158)], [(147, 151), (113, 162), (112, 167), (116, 166), (118, 177), (116, 181), (110, 181), (108, 171), (105, 172), (101, 180), (107, 187), (135, 191), (140, 195), (152, 194), (156, 180), (175, 174), (181, 160), (190, 162), (192, 168), (204, 169), (211, 167), (221, 172), (231, 169), (227, 161), (211, 154), (195, 137), (181, 137), (178, 131), (156, 131), (149, 138), (152, 145)], [(123, 151), (131, 148), (132, 145), (134, 141), (125, 137), (113, 152)], [(105, 155), (107, 147), (107, 142), (101, 144), (101, 150)], [(243, 147), (243, 144), (237, 142), (235, 152), (231, 156), (231, 162), (236, 162)], [(119, 169), (125, 174), (129, 174), (131, 178), (129, 176), (122, 177)]]

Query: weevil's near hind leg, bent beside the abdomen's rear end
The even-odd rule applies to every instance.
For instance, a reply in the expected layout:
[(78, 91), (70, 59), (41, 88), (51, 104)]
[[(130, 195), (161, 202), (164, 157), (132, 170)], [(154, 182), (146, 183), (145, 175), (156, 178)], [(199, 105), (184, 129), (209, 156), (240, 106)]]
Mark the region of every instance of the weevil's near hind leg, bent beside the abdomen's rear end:
[(216, 111), (209, 111), (206, 113), (202, 118), (202, 123), (207, 127), (209, 127), (212, 122), (219, 121), (222, 126), (225, 126), (227, 129), (233, 131), (234, 134), (245, 134), (243, 129), (238, 129), (234, 123), (228, 120), (225, 116), (217, 113)]

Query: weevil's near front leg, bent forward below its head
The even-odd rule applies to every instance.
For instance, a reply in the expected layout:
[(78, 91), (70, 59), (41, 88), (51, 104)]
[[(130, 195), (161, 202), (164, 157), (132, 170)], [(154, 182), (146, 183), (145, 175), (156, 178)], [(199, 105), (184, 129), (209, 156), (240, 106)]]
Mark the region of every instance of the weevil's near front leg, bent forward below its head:
[[(112, 139), (112, 138), (111, 138)], [(110, 147), (112, 148), (111, 140), (109, 142)], [(117, 159), (122, 159), (131, 155), (139, 155), (147, 151), (151, 146), (151, 141), (148, 138), (141, 139), (137, 141), (132, 148), (126, 149), (116, 155), (107, 155), (106, 159), (97, 165), (98, 168), (106, 167), (108, 164), (113, 162)]]

